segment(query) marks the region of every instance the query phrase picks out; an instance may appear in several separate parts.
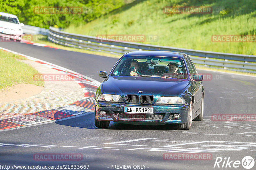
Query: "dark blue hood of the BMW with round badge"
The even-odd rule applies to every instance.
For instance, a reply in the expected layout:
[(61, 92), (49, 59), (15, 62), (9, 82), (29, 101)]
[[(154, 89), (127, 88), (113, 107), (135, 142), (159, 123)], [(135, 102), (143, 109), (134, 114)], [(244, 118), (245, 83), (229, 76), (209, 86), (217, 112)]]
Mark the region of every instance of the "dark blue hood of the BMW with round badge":
[[(189, 84), (188, 79), (160, 77), (109, 76), (101, 84), (104, 94), (137, 94), (154, 96), (178, 96)], [(143, 91), (141, 94), (138, 91)]]

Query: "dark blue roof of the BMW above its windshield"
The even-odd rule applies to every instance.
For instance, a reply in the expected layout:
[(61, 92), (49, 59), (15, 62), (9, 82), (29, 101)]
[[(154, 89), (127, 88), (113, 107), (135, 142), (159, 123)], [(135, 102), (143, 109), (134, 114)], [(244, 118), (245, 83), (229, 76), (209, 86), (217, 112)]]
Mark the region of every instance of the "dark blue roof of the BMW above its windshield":
[(171, 51), (132, 51), (124, 54), (124, 56), (163, 56), (163, 57), (177, 57), (182, 58), (184, 53)]

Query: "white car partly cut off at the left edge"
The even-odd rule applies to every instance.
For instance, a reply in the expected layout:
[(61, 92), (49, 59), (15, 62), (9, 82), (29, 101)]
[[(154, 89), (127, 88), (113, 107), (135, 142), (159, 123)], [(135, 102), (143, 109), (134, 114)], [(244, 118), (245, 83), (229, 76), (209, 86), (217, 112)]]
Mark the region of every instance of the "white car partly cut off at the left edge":
[(23, 34), (21, 26), (24, 24), (16, 15), (0, 12), (0, 37), (20, 41)]

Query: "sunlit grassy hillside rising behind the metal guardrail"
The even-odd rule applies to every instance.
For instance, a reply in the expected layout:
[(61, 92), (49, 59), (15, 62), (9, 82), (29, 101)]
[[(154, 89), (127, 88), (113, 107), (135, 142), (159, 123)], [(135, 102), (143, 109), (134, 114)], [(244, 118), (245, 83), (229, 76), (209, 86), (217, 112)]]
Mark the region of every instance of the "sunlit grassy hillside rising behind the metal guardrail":
[[(220, 6), (210, 14), (164, 13), (165, 6)], [(84, 35), (156, 35), (153, 45), (256, 55), (255, 42), (212, 42), (212, 35), (256, 35), (255, 0), (147, 0), (134, 1), (87, 24), (65, 31)]]

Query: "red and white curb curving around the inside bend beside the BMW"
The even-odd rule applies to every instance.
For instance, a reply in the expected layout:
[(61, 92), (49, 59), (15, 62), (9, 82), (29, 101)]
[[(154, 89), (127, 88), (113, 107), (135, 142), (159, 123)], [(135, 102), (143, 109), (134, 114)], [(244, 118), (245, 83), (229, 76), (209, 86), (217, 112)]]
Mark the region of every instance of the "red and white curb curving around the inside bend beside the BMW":
[[(74, 81), (76, 81), (81, 88), (84, 90), (84, 98), (82, 100), (76, 101), (75, 103), (62, 106), (59, 108), (55, 108), (52, 110), (44, 110), (35, 113), (29, 113), (23, 116), (12, 117), (8, 119), (0, 120), (0, 130), (11, 129), (21, 126), (27, 126), (32, 124), (38, 124), (43, 122), (48, 122), (52, 120), (57, 120), (60, 118), (71, 117), (75, 115), (79, 115), (82, 113), (90, 112), (94, 110), (95, 105), (95, 92), (100, 86), (100, 82), (96, 81), (90, 77), (85, 75), (81, 75), (77, 72), (69, 70), (64, 67), (60, 67), (58, 65), (39, 60), (24, 54), (20, 54), (5, 48), (0, 47), (1, 50), (11, 52), (20, 56), (23, 56), (29, 60), (36, 61), (40, 64), (43, 64), (46, 67), (50, 67), (60, 71), (63, 74), (67, 74)], [(1, 113), (0, 113), (1, 114)]]

